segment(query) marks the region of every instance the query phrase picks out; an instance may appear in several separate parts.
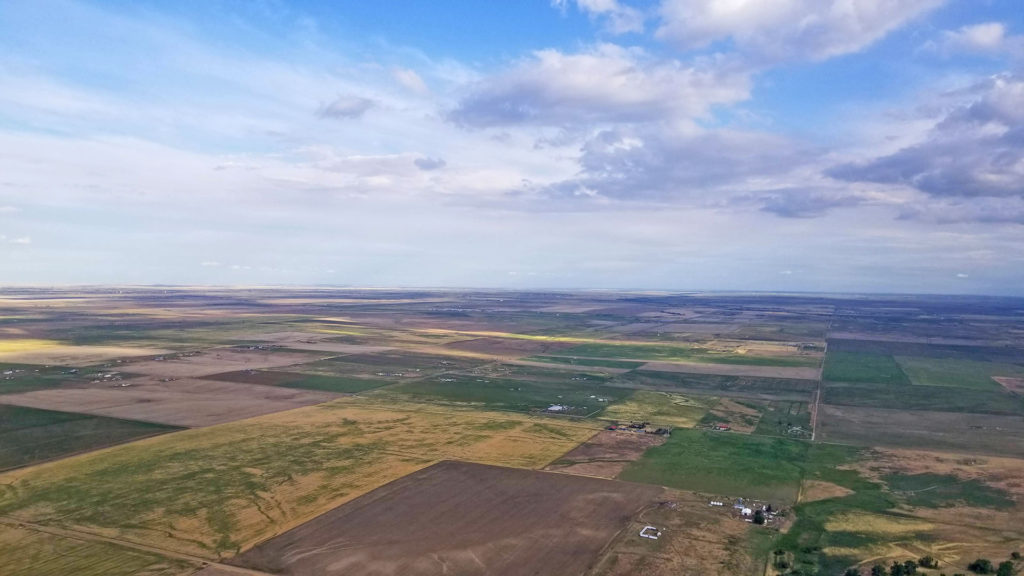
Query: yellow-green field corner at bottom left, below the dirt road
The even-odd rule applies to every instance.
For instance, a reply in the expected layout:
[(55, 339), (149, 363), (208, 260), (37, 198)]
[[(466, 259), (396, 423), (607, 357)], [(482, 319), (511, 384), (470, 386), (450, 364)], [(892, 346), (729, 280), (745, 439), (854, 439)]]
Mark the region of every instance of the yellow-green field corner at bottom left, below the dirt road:
[(0, 524), (4, 576), (184, 576), (199, 565)]

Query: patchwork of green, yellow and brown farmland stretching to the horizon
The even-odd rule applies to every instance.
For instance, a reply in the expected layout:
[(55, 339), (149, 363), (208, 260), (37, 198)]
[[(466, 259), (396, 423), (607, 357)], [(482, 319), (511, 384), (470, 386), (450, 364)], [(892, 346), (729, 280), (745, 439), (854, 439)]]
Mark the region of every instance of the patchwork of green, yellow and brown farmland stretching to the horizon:
[[(26, 575), (835, 576), (926, 554), (964, 572), (1024, 551), (1021, 315), (9, 289), (0, 553)], [(783, 513), (708, 505), (735, 498)]]

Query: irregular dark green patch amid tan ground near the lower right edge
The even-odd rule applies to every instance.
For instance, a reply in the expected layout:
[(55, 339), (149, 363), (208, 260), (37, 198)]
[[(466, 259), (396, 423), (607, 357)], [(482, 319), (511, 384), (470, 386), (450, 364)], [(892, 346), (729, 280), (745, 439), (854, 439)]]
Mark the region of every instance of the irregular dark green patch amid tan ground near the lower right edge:
[(937, 474), (887, 475), (882, 478), (889, 489), (911, 506), (940, 508), (966, 504), (982, 508), (1014, 507), (1010, 494), (977, 480), (963, 480)]

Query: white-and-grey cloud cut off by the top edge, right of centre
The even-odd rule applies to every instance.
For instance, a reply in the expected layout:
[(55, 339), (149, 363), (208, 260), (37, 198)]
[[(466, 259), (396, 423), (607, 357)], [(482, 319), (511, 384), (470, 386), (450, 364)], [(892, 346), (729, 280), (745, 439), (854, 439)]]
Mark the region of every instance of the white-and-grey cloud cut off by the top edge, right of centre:
[(665, 0), (657, 37), (683, 49), (731, 41), (765, 64), (856, 52), (945, 0)]

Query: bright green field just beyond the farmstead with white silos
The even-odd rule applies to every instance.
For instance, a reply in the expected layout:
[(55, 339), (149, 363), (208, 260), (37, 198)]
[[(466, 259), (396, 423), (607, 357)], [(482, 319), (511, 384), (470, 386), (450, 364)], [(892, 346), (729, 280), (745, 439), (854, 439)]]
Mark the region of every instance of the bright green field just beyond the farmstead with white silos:
[(800, 489), (810, 447), (780, 438), (676, 429), (667, 443), (648, 450), (620, 478), (790, 504)]

